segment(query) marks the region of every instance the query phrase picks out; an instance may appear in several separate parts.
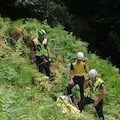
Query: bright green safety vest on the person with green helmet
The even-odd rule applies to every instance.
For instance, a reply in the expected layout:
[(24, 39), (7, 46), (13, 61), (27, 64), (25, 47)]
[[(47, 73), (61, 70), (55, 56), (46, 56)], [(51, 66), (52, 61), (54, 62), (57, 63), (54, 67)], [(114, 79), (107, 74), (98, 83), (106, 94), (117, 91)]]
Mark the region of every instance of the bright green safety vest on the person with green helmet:
[(35, 45), (35, 56), (47, 56), (47, 50), (45, 49), (44, 45), (47, 43), (47, 39), (44, 39), (42, 45), (38, 38), (33, 39)]

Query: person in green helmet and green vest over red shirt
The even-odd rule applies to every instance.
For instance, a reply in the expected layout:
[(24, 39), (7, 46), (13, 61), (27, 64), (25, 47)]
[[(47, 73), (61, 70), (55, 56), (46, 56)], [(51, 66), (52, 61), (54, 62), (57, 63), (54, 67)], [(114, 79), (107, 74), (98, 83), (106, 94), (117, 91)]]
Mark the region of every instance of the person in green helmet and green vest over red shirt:
[(43, 73), (45, 70), (46, 76), (50, 76), (50, 50), (48, 46), (47, 39), (44, 38), (46, 35), (46, 31), (43, 29), (38, 30), (38, 38), (33, 39), (31, 43), (31, 63), (34, 63), (34, 56), (36, 59), (36, 65), (38, 67), (38, 71)]

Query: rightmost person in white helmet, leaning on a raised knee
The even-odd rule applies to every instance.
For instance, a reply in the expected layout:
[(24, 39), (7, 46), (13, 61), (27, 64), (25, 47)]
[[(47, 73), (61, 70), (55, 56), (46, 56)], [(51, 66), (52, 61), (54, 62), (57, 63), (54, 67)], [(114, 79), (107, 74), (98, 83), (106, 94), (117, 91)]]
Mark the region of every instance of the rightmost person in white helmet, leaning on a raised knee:
[(82, 112), (84, 106), (87, 104), (93, 104), (100, 119), (104, 120), (103, 115), (103, 98), (105, 96), (105, 83), (102, 79), (97, 77), (97, 71), (91, 69), (88, 72), (88, 78), (84, 82), (84, 89), (89, 88), (87, 97), (84, 97), (78, 102), (78, 107)]

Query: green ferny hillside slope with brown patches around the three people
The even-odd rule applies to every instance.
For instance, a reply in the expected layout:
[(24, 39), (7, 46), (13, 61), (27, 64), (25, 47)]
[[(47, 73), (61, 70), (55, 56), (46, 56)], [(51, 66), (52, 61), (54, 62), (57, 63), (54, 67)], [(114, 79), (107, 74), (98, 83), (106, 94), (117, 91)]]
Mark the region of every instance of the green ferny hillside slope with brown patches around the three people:
[[(30, 42), (37, 37), (40, 28), (47, 31), (51, 51), (49, 79), (30, 64)], [(80, 118), (74, 114), (62, 114), (57, 106), (56, 99), (66, 93), (70, 63), (79, 51), (88, 57), (89, 68), (95, 68), (105, 81), (105, 119), (119, 120), (119, 69), (109, 60), (88, 53), (87, 46), (88, 43), (76, 40), (72, 33), (63, 30), (60, 25), (51, 28), (45, 21), (40, 23), (36, 19), (11, 21), (0, 18), (0, 120), (97, 120), (92, 105), (86, 107), (85, 115)], [(77, 86), (73, 94), (79, 100)]]

